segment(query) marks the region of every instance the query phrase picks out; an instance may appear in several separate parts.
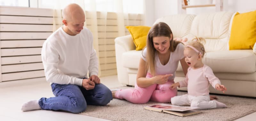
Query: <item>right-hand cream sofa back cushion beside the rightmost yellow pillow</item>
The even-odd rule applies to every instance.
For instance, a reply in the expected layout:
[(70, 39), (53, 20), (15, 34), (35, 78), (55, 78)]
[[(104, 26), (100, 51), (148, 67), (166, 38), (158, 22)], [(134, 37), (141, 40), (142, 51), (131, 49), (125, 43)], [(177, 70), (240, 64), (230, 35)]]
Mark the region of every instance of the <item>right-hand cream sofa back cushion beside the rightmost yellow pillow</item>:
[[(228, 29), (231, 12), (215, 12), (197, 15), (191, 25), (188, 40), (195, 36), (203, 37), (206, 40), (205, 51), (218, 51), (228, 49)], [(230, 33), (229, 33), (230, 34)]]

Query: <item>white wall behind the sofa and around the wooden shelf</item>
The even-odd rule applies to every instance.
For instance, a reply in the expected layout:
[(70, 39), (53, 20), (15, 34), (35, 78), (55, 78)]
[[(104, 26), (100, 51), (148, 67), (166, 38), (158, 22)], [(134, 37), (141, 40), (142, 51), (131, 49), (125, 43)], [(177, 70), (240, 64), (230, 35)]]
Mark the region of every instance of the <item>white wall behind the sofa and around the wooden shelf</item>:
[[(190, 0), (190, 5), (209, 4), (210, 0)], [(153, 3), (153, 5), (152, 5)], [(213, 0), (215, 4), (215, 0)], [(151, 6), (147, 6), (151, 5)], [(157, 18), (177, 14), (177, 0), (146, 0), (146, 8), (154, 10), (153, 14), (147, 15), (145, 23), (147, 26), (152, 26)], [(147, 10), (147, 9), (146, 9)], [(256, 10), (256, 0), (223, 0), (223, 10), (231, 12), (247, 12)], [(187, 14), (200, 14), (205, 12), (214, 12), (215, 7), (188, 8)], [(153, 18), (153, 20), (152, 20)]]

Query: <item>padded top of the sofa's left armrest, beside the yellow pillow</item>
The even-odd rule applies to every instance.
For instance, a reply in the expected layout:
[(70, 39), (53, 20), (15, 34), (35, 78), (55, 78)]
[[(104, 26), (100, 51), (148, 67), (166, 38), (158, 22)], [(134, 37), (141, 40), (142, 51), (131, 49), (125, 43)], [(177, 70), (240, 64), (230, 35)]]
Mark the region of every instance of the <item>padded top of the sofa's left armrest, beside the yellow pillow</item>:
[(126, 51), (135, 50), (136, 46), (133, 43), (132, 35), (117, 37), (115, 44), (122, 46)]

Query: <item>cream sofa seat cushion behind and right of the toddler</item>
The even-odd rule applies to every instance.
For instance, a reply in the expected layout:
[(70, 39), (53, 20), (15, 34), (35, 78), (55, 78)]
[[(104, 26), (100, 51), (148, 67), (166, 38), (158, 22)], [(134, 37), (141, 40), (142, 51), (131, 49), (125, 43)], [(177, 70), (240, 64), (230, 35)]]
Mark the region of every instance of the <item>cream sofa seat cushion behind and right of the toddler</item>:
[[(214, 73), (254, 73), (256, 55), (252, 50), (231, 50), (208, 52), (203, 63)], [(179, 64), (177, 71), (182, 71)]]

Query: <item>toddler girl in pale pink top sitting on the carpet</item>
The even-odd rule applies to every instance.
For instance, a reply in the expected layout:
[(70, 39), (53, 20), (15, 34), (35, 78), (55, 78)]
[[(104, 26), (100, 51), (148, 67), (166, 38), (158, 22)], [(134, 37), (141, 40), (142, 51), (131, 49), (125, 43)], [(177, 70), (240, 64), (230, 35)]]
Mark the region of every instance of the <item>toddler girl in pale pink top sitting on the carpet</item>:
[(203, 38), (196, 37), (188, 42), (184, 48), (185, 61), (189, 66), (186, 79), (172, 84), (170, 89), (188, 87), (188, 94), (172, 97), (171, 103), (173, 105), (190, 105), (191, 107), (198, 107), (198, 110), (227, 107), (224, 103), (216, 100), (210, 101), (210, 84), (223, 93), (227, 89), (224, 85), (220, 84), (220, 80), (213, 74), (212, 69), (202, 62), (205, 53), (202, 44), (204, 42)]

